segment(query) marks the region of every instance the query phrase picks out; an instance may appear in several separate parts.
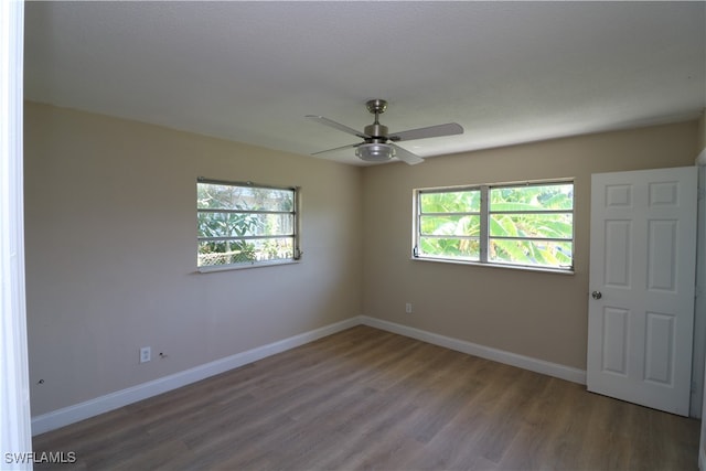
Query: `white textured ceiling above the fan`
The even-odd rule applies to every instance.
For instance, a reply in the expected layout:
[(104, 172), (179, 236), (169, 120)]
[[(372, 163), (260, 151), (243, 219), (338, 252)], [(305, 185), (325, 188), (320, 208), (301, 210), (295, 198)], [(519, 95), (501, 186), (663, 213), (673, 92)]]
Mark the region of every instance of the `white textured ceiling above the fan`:
[[(383, 98), (422, 157), (692, 119), (706, 2), (28, 2), (25, 98), (309, 154)], [(362, 164), (353, 150), (319, 156)]]

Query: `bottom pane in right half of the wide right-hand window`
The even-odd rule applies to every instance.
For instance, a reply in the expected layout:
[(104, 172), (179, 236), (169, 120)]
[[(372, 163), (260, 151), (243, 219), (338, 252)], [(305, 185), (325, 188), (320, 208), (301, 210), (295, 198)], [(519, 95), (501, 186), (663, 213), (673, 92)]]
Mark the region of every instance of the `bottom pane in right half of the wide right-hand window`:
[(560, 267), (571, 265), (570, 242), (490, 239), (489, 261)]

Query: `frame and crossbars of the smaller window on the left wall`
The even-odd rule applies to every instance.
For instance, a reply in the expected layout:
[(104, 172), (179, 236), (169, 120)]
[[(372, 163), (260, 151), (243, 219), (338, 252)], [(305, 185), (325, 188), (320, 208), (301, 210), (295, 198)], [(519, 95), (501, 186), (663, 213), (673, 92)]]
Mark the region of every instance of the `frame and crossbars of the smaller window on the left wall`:
[[(292, 234), (266, 234), (266, 235), (243, 235), (243, 236), (227, 236), (227, 237), (207, 237), (202, 236), (201, 234), (196, 234), (196, 269), (200, 272), (211, 272), (211, 271), (223, 271), (223, 270), (236, 270), (243, 268), (255, 268), (255, 267), (267, 267), (267, 266), (276, 266), (276, 265), (287, 265), (287, 264), (296, 264), (301, 260), (302, 251), (300, 249), (300, 199), (301, 199), (301, 188), (299, 186), (274, 186), (260, 183), (254, 183), (250, 181), (246, 182), (235, 182), (235, 181), (224, 181), (224, 180), (215, 180), (200, 176), (196, 181), (196, 188), (199, 184), (214, 184), (214, 185), (225, 185), (225, 186), (237, 186), (237, 188), (252, 188), (252, 189), (261, 189), (261, 190), (281, 190), (281, 191), (290, 191), (292, 192), (293, 197), (293, 208), (291, 211), (269, 211), (269, 210), (243, 210), (243, 208), (220, 208), (220, 210), (206, 210), (199, 207), (199, 200), (196, 197), (196, 216), (201, 213), (238, 213), (238, 214), (288, 214), (292, 216)], [(201, 266), (199, 263), (199, 246), (202, 242), (223, 242), (223, 240), (264, 240), (264, 239), (275, 239), (275, 238), (291, 238), (293, 253), (289, 258), (278, 258), (271, 260), (247, 260), (235, 264), (227, 265), (203, 265)]]

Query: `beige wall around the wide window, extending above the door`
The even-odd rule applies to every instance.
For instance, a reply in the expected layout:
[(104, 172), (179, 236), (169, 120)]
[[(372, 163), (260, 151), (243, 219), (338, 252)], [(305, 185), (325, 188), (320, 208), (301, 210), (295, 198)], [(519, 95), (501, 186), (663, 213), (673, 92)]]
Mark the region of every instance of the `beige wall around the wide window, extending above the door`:
[[(364, 313), (586, 368), (590, 175), (692, 165), (697, 132), (691, 121), (366, 168)], [(410, 260), (414, 189), (558, 178), (576, 182), (575, 275)]]

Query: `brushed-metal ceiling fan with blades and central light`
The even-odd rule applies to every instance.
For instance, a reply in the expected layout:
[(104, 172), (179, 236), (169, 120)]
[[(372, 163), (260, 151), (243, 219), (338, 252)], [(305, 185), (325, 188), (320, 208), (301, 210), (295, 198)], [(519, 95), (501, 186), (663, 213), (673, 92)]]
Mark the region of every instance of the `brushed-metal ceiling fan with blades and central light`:
[(409, 129), (407, 131), (400, 131), (395, 133), (387, 132), (387, 126), (379, 124), (379, 115), (387, 109), (387, 101), (384, 99), (371, 99), (365, 106), (367, 110), (375, 115), (375, 121), (372, 125), (367, 125), (363, 132), (356, 131), (340, 122), (333, 121), (329, 118), (318, 115), (307, 115), (307, 118), (320, 122), (324, 126), (338, 129), (349, 135), (357, 136), (363, 139), (363, 142), (352, 143), (347, 146), (336, 147), (334, 149), (322, 150), (312, 153), (317, 156), (323, 152), (331, 152), (334, 150), (355, 148), (355, 154), (367, 162), (386, 162), (393, 157), (407, 162), (410, 165), (415, 163), (424, 162), (419, 156), (397, 146), (395, 142), (410, 141), (415, 139), (437, 138), (441, 136), (452, 136), (463, 133), (463, 128), (456, 122), (448, 122), (446, 125), (428, 126), (426, 128)]

